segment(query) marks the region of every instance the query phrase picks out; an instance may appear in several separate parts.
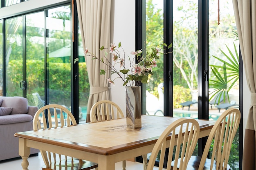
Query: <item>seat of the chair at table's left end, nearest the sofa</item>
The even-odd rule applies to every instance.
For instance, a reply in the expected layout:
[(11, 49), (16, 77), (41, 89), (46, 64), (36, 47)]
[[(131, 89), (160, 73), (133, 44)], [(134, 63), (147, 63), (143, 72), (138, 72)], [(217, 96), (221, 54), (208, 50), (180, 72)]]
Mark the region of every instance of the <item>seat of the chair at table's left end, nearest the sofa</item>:
[[(98, 164), (91, 162), (91, 161), (85, 161), (85, 160), (79, 160), (79, 159), (67, 159), (67, 161), (61, 160), (56, 161), (56, 163), (51, 163), (50, 168), (46, 168), (46, 166), (42, 166), (42, 170), (91, 170), (93, 168), (97, 168)], [(61, 168), (60, 168), (61, 166)]]

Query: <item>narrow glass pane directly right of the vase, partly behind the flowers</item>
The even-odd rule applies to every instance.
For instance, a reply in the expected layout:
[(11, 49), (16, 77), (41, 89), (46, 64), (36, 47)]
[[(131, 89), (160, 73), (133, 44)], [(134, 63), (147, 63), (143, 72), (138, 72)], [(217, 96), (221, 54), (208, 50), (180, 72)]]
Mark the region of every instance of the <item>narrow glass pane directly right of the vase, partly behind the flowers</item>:
[[(163, 43), (163, 1), (146, 1), (146, 49)], [(164, 63), (163, 54), (159, 55), (157, 67), (153, 68), (153, 75), (149, 75), (146, 84), (146, 114), (164, 115)]]

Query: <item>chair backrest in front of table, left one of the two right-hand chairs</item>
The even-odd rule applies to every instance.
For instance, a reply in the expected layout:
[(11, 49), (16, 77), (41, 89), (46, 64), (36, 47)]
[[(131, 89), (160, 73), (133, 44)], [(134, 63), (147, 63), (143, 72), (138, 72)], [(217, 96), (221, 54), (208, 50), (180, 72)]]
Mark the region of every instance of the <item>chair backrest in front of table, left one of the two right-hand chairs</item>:
[[(172, 165), (173, 170), (177, 170), (177, 165), (179, 164), (179, 170), (186, 170), (189, 159), (198, 141), (199, 130), (198, 121), (195, 119), (183, 117), (172, 122), (157, 140), (151, 153), (147, 170), (153, 170), (159, 151), (161, 151), (159, 170), (162, 170), (166, 148), (169, 148), (166, 169), (170, 170)], [(171, 139), (167, 142), (166, 140), (170, 138), (170, 133)], [(175, 156), (173, 156), (175, 146)]]

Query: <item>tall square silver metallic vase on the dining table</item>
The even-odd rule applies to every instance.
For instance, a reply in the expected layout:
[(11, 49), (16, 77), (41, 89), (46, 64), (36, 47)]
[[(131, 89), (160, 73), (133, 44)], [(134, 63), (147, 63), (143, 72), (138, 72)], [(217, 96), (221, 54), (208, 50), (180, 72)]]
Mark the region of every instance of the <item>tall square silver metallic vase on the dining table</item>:
[(141, 87), (126, 86), (127, 128), (141, 128)]

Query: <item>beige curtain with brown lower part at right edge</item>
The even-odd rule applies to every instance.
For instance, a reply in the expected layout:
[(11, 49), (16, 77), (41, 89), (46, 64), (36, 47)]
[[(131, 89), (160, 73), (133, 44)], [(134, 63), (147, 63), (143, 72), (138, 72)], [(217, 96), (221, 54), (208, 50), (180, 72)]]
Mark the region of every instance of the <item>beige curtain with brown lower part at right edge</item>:
[(242, 170), (256, 170), (256, 1), (233, 0), (251, 106), (245, 128)]

